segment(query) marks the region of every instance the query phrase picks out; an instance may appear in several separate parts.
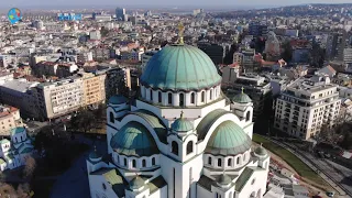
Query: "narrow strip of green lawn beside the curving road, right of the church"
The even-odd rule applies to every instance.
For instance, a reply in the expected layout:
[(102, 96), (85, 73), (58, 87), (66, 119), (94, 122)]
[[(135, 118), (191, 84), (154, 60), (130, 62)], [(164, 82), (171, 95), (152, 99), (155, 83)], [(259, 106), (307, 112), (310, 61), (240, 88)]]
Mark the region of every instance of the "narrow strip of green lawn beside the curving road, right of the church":
[(266, 140), (257, 134), (253, 134), (253, 141), (256, 143), (263, 143), (263, 146), (273, 152), (277, 156), (282, 157), (287, 164), (289, 164), (301, 177), (305, 177), (320, 186), (329, 186), (318, 174), (316, 174), (309, 166), (301, 162), (296, 155), (287, 151), (286, 148), (275, 144), (274, 142)]

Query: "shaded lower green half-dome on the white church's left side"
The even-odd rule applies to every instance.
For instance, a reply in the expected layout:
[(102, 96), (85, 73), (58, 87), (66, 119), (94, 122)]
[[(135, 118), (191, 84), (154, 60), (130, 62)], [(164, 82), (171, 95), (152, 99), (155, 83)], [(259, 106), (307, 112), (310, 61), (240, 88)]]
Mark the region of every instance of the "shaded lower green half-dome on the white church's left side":
[(128, 156), (151, 156), (160, 153), (148, 130), (135, 121), (123, 125), (112, 136), (110, 145), (119, 154)]

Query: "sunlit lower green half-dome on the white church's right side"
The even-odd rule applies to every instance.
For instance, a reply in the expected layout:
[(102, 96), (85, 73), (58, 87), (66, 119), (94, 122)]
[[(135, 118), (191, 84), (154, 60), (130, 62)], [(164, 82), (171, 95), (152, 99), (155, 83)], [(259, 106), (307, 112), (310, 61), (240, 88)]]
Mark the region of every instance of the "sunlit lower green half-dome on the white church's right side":
[(252, 140), (242, 128), (232, 121), (217, 127), (207, 144), (206, 152), (213, 155), (238, 155), (251, 148)]

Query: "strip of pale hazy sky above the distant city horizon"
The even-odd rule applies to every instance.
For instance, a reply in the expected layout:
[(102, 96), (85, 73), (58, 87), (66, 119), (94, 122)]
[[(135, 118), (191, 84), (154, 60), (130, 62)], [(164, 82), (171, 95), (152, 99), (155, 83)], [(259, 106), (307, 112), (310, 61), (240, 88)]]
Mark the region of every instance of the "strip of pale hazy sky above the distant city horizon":
[[(57, 3), (59, 2), (59, 3)], [(105, 8), (110, 6), (117, 6), (117, 7), (125, 7), (125, 8), (179, 8), (179, 9), (194, 9), (194, 8), (212, 8), (212, 9), (261, 9), (261, 8), (274, 8), (274, 7), (285, 7), (285, 6), (297, 6), (297, 4), (310, 4), (310, 3), (332, 3), (329, 0), (311, 0), (309, 2), (305, 0), (297, 0), (297, 1), (278, 1), (278, 0), (267, 0), (265, 3), (258, 0), (253, 0), (250, 2), (244, 2), (244, 1), (238, 1), (233, 2), (230, 0), (220, 0), (217, 2), (201, 2), (199, 0), (196, 1), (186, 1), (186, 0), (180, 0), (175, 2), (165, 2), (165, 1), (160, 1), (160, 0), (151, 0), (147, 3), (142, 0), (136, 0), (133, 2), (114, 2), (112, 0), (102, 0), (100, 1), (99, 4), (96, 4), (95, 1), (81, 1), (81, 0), (75, 0), (69, 1), (69, 0), (59, 0), (55, 2), (43, 2), (41, 0), (33, 0), (31, 2), (24, 2), (23, 0), (13, 0), (11, 2), (3, 2), (0, 8), (1, 9), (10, 9), (13, 7), (16, 8), (23, 8), (23, 9), (64, 9), (64, 8)], [(332, 4), (339, 4), (339, 3), (352, 3), (350, 0), (338, 0), (334, 1)]]

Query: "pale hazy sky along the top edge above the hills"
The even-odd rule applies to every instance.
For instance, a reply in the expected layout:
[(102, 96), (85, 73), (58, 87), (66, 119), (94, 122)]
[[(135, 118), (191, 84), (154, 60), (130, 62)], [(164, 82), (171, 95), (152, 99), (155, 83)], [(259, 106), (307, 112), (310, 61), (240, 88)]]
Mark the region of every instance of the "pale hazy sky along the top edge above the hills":
[(199, 8), (207, 7), (278, 7), (289, 4), (302, 4), (302, 3), (352, 3), (352, 0), (7, 0), (2, 1), (1, 8), (40, 8), (42, 7), (65, 7), (81, 6), (82, 8), (88, 6), (121, 6), (121, 7), (183, 7), (183, 6), (196, 6)]

